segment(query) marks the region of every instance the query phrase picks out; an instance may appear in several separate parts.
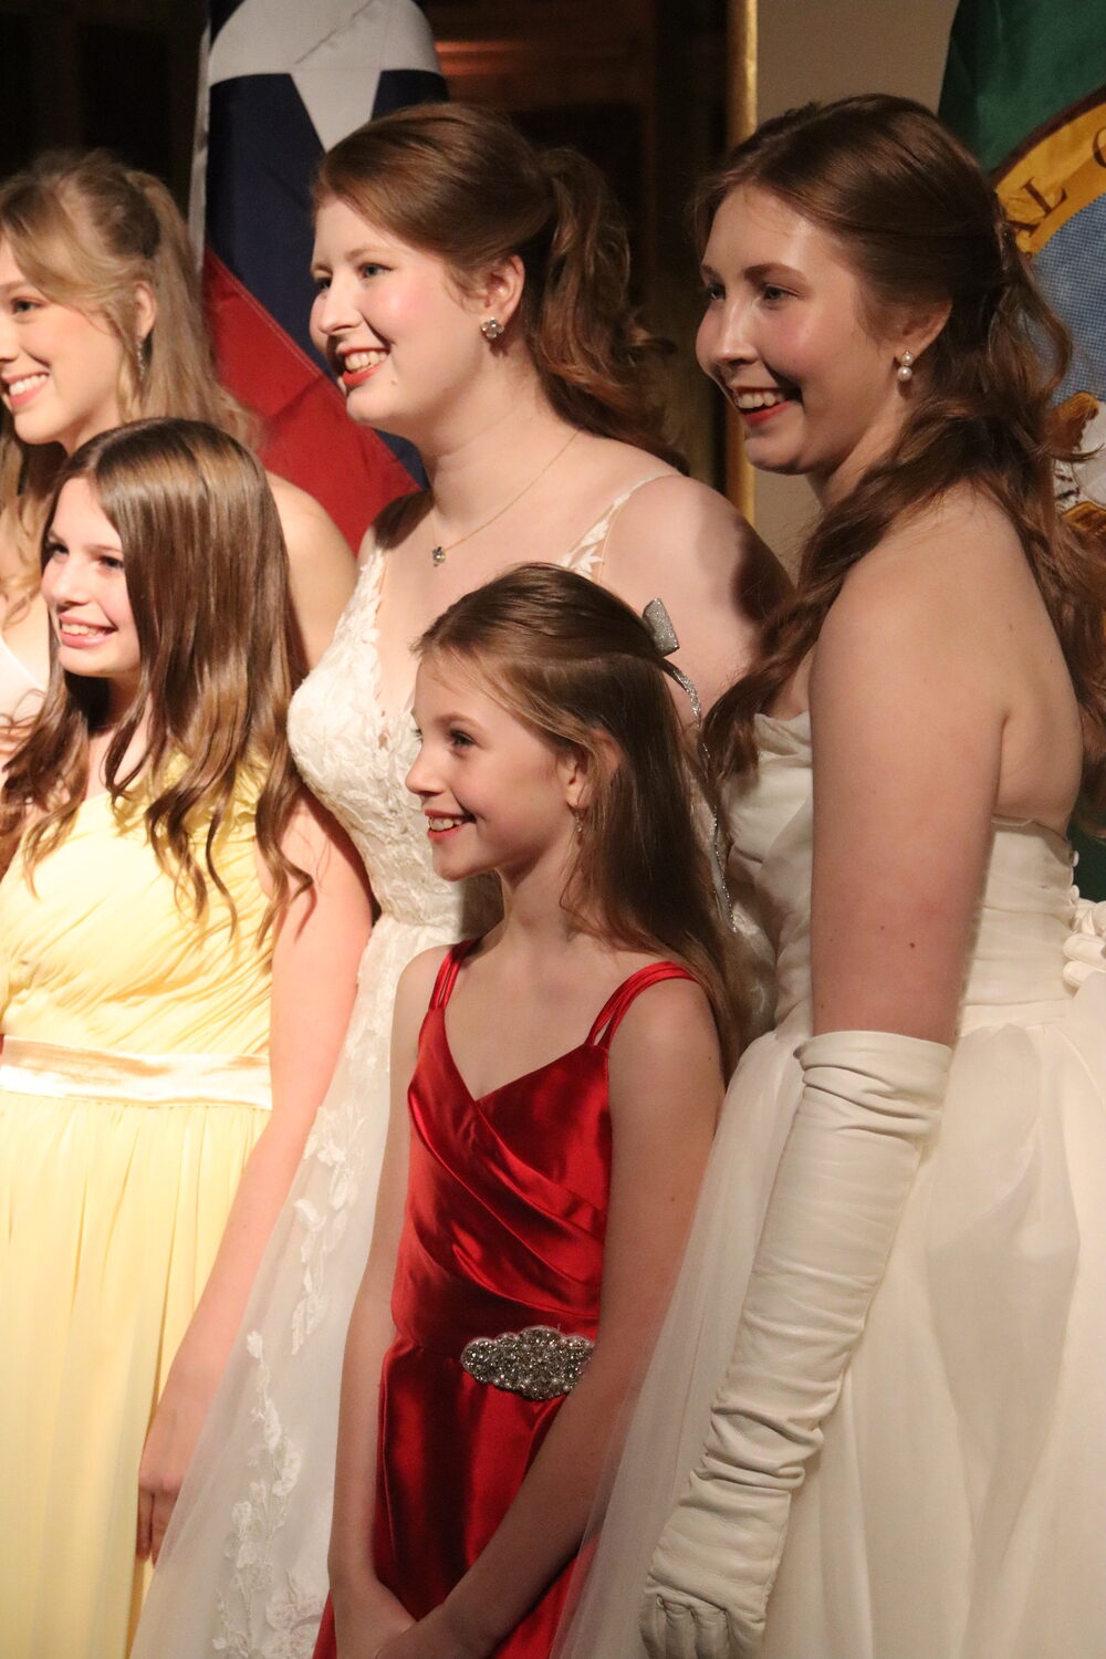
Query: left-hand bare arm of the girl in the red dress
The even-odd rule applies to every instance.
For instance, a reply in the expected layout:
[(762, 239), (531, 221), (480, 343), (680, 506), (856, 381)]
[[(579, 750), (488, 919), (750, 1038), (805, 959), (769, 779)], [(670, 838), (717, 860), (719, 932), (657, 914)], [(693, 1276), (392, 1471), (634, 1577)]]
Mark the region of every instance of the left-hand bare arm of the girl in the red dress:
[(411, 1618), (371, 1571), (380, 1374), (395, 1339), (391, 1287), (403, 1231), (410, 1161), (408, 1083), (441, 951), (403, 972), (391, 1024), (391, 1107), (373, 1218), (373, 1243), (353, 1302), (342, 1364), (338, 1457), (330, 1530), (330, 1583), (338, 1651), (371, 1654)]

